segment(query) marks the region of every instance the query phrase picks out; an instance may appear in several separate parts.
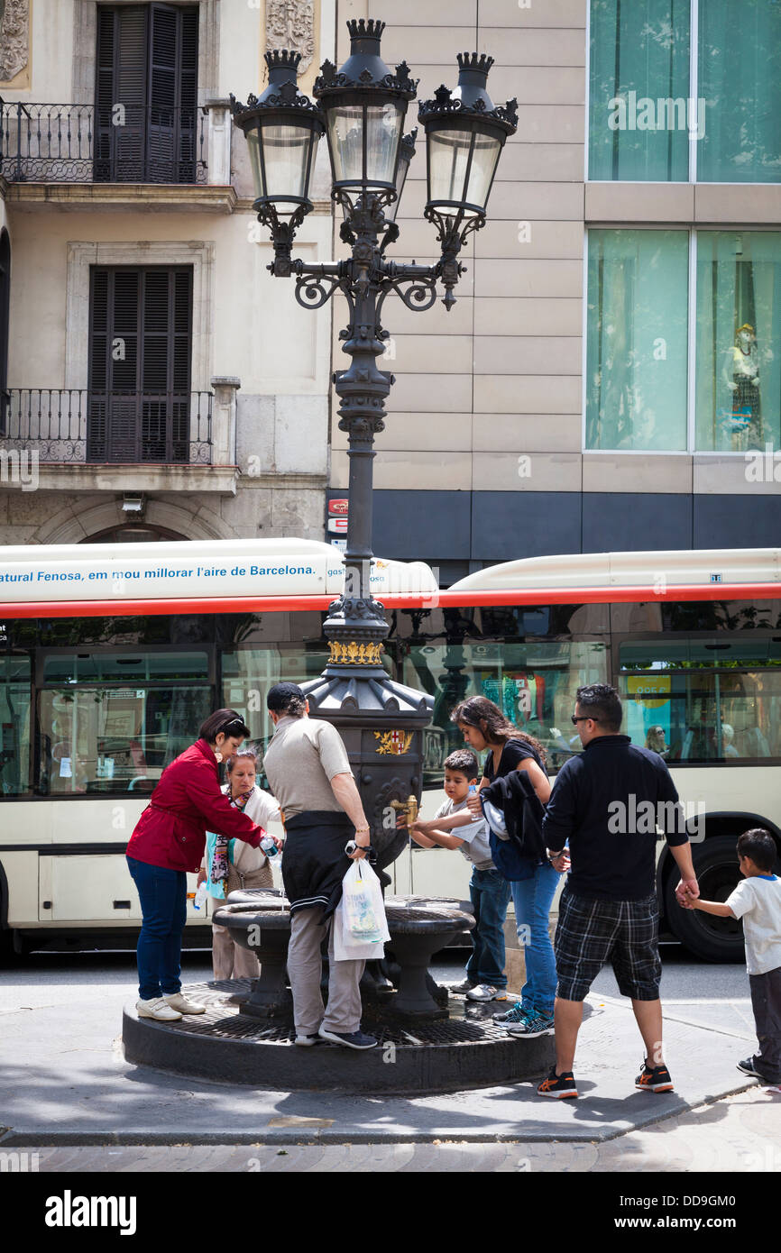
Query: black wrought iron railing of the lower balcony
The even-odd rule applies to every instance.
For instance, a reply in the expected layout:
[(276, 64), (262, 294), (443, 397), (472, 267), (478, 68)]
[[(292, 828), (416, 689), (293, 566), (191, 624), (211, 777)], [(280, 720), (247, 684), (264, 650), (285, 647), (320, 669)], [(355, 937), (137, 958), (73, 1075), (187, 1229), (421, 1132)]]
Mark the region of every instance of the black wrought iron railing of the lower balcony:
[(40, 461), (212, 465), (213, 392), (93, 392), (10, 387), (0, 393), (0, 449)]

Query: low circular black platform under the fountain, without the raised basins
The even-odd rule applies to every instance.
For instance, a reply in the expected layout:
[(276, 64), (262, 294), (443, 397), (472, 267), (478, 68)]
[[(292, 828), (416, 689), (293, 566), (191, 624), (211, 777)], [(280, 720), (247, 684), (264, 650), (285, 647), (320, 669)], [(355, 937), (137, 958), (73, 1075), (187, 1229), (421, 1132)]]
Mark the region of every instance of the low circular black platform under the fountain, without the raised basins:
[(303, 1049), (293, 1044), (292, 1026), (242, 1015), (232, 999), (246, 997), (249, 990), (248, 979), (183, 987), (207, 1011), (170, 1024), (139, 1019), (134, 1005), (125, 1006), (127, 1060), (212, 1083), (362, 1096), (519, 1083), (542, 1078), (554, 1060), (552, 1035), (519, 1040), (493, 1021), (491, 1014), (509, 1007), (506, 1001), (484, 1005), (451, 994), (448, 1021), (409, 1027), (384, 1020), (381, 1005), (367, 1004), (361, 1025), (380, 1044), (357, 1053), (326, 1042)]

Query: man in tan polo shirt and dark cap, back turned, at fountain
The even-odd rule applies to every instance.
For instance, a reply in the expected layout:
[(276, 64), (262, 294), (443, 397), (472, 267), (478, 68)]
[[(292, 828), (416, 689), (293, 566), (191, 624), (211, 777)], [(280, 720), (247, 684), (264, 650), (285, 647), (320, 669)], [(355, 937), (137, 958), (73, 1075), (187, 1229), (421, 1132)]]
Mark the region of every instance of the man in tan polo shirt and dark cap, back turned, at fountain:
[[(263, 757), (268, 784), (283, 814), (282, 880), (291, 908), (287, 974), (293, 994), (296, 1044), (330, 1040), (374, 1049), (361, 1031), (359, 982), (365, 961), (333, 960), (333, 910), (350, 860), (365, 856), (369, 823), (342, 738), (328, 722), (308, 717), (295, 683), (277, 683), (266, 700), (276, 730)], [(350, 840), (357, 845), (345, 851)], [(320, 991), (321, 944), (328, 935), (328, 1007)]]

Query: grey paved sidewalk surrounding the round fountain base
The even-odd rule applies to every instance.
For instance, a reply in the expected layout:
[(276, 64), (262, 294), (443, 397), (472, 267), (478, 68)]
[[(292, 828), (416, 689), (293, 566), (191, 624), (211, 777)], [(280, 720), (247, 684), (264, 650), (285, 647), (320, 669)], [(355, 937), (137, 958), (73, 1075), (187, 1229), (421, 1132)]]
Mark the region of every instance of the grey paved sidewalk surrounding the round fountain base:
[[(28, 1007), (16, 1002), (0, 1014), (3, 1150), (435, 1140), (588, 1145), (756, 1086), (736, 1069), (755, 1048), (751, 1012), (741, 1000), (664, 1002), (666, 1054), (676, 1091), (654, 1095), (633, 1086), (642, 1044), (628, 1002), (590, 996), (575, 1068), (582, 1098), (547, 1101), (530, 1083), (379, 1099), (369, 1093), (261, 1091), (231, 1085), (229, 1075), (224, 1085), (181, 1079), (125, 1063), (117, 1032), (127, 987), (102, 989), (99, 999), (63, 985), (25, 995)], [(772, 1098), (765, 1100), (770, 1108)]]

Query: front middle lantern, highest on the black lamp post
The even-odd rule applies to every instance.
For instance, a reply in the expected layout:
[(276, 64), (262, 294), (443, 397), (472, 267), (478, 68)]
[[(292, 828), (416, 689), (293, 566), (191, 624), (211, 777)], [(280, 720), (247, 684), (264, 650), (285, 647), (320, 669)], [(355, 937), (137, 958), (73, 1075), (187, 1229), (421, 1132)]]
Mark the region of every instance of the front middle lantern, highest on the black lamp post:
[(315, 98), (326, 115), (336, 199), (374, 192), (391, 200), (407, 104), (416, 91), (405, 61), (392, 74), (380, 56), (384, 21), (347, 23), (350, 56), (340, 70), (321, 65)]

